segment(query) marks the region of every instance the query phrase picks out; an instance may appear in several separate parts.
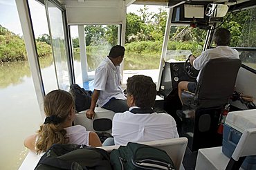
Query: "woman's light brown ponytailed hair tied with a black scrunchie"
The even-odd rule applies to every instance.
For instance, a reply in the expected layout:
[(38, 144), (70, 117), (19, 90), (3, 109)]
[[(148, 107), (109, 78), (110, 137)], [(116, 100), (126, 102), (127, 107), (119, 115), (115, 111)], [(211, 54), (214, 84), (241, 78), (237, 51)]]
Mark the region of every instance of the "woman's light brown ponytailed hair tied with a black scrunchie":
[(51, 91), (44, 97), (46, 120), (37, 131), (37, 153), (47, 151), (53, 144), (68, 143), (63, 122), (67, 119), (68, 114), (71, 113), (73, 106), (73, 97), (66, 91)]

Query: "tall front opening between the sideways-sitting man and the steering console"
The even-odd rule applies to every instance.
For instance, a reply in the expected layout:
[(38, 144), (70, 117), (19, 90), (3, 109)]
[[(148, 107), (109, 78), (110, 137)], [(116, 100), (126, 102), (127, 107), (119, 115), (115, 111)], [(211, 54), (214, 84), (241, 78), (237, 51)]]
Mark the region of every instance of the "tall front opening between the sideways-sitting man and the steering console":
[(158, 82), (158, 67), (165, 35), (167, 7), (131, 5), (127, 8), (125, 66), (122, 83), (133, 75)]

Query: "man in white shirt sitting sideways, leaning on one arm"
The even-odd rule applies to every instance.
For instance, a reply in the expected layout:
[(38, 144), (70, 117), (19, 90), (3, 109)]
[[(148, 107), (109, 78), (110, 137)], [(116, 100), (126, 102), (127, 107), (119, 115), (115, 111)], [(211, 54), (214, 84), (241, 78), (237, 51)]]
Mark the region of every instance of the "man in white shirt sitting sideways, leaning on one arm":
[(96, 104), (116, 113), (128, 110), (126, 97), (121, 87), (122, 77), (120, 74), (120, 64), (124, 57), (125, 48), (120, 45), (113, 46), (109, 55), (95, 70), (91, 106), (86, 111), (86, 117), (89, 119), (95, 115)]

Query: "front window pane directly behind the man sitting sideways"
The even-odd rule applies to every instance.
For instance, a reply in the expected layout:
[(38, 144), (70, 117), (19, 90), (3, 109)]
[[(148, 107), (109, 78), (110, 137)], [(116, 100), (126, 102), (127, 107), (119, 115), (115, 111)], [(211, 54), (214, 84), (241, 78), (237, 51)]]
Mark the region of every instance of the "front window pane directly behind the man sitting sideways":
[[(95, 69), (109, 55), (111, 47), (118, 44), (118, 25), (70, 26), (70, 30), (75, 83), (93, 90)], [(82, 35), (79, 34), (81, 31)], [(85, 41), (80, 41), (80, 38)], [(80, 46), (80, 43), (84, 46)]]

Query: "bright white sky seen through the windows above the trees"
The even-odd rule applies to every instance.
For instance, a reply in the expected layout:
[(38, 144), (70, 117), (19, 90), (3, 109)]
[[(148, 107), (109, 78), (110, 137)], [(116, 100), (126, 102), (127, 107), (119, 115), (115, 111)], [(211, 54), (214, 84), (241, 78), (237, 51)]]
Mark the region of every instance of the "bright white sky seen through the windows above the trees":
[[(49, 34), (48, 24), (46, 20), (46, 12), (44, 6), (35, 0), (28, 1), (31, 12), (31, 17), (34, 26), (35, 37), (39, 35)], [(143, 5), (131, 5), (127, 8), (128, 12), (139, 14), (138, 10), (143, 8)], [(148, 12), (158, 12), (159, 6), (147, 6)], [(0, 0), (0, 25), (8, 28), (17, 35), (22, 36), (21, 24), (19, 15), (15, 5), (15, 0)], [(71, 28), (72, 37), (77, 37), (77, 27)]]

